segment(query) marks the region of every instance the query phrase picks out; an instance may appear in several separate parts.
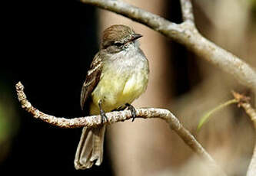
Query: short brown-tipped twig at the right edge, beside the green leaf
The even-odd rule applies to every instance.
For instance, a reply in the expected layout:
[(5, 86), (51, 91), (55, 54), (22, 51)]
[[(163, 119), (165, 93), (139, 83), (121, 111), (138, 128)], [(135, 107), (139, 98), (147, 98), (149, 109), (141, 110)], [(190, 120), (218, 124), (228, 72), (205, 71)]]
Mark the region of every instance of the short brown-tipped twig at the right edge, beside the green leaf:
[[(241, 106), (246, 114), (250, 117), (254, 123), (254, 130), (256, 132), (256, 110), (249, 103), (249, 97), (240, 93), (232, 92), (235, 99), (238, 100), (238, 106)], [(255, 136), (256, 137), (256, 136)], [(256, 143), (254, 144), (254, 154), (251, 157), (251, 163), (248, 167), (247, 176), (255, 176), (256, 174)]]

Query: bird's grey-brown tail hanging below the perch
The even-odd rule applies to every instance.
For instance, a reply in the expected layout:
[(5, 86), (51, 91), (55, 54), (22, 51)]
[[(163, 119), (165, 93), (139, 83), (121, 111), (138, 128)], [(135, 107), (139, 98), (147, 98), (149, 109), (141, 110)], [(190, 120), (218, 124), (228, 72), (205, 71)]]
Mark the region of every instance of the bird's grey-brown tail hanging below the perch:
[(105, 125), (101, 128), (84, 127), (75, 153), (75, 169), (91, 168), (93, 164), (101, 165)]

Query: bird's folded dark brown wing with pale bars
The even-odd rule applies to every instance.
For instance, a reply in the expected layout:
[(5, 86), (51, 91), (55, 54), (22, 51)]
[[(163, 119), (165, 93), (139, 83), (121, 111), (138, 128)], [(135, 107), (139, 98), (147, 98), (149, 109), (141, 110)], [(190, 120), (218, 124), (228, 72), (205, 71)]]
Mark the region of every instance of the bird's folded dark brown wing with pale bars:
[(102, 60), (100, 54), (96, 54), (95, 58), (91, 62), (90, 70), (88, 70), (85, 83), (81, 88), (81, 96), (80, 96), (80, 106), (81, 109), (84, 109), (85, 101), (91, 95), (91, 92), (98, 85), (98, 82), (101, 78), (101, 70), (102, 70)]

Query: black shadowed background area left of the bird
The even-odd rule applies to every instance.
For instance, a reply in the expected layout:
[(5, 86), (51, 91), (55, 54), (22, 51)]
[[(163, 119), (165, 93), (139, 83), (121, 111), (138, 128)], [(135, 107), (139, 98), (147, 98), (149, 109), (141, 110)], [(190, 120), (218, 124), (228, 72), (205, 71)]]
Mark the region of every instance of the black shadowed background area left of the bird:
[(15, 94), (20, 80), (29, 101), (43, 112), (69, 118), (82, 115), (81, 85), (98, 51), (95, 8), (76, 1), (12, 3), (5, 13), (0, 98), (11, 95), (18, 114), (13, 121), (19, 125), (8, 156), (0, 162), (0, 174), (111, 175), (107, 152), (100, 167), (75, 171), (81, 129), (58, 129), (33, 119), (21, 109)]

